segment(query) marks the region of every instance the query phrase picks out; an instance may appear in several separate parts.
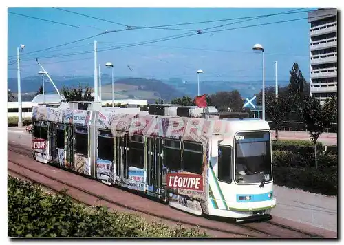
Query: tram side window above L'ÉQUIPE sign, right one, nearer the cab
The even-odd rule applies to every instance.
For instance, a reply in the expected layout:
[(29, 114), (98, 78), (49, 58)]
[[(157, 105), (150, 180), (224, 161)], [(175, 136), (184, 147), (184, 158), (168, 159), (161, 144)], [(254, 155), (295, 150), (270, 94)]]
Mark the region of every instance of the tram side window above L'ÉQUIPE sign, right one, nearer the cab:
[(202, 174), (203, 151), (202, 144), (197, 142), (184, 142), (183, 144), (183, 170)]

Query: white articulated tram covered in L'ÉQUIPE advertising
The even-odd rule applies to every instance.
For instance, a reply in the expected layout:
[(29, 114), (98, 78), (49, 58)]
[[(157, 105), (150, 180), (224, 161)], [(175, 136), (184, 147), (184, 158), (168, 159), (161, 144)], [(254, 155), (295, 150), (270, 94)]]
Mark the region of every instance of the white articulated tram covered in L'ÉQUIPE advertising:
[(33, 107), (35, 160), (195, 215), (241, 220), (275, 206), (268, 122), (79, 104)]

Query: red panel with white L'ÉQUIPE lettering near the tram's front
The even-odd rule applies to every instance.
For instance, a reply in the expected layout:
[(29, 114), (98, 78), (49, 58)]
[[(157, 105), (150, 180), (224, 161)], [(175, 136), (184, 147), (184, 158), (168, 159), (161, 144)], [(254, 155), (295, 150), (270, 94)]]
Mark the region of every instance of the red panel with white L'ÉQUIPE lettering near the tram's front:
[(202, 175), (167, 173), (167, 187), (203, 191)]

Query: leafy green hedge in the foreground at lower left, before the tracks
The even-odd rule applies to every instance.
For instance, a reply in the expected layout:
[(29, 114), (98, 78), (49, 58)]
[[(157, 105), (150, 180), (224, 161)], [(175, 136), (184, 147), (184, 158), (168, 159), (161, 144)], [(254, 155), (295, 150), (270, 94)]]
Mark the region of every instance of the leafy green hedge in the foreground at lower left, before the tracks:
[(73, 202), (65, 193), (48, 195), (38, 186), (8, 176), (10, 237), (208, 237), (197, 228), (148, 223), (130, 213)]

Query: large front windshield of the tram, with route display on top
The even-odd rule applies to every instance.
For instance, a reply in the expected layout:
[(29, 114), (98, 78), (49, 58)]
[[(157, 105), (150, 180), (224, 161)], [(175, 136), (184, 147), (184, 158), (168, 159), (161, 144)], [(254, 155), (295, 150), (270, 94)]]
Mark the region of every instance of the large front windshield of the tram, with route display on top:
[(239, 132), (235, 136), (235, 181), (238, 184), (272, 180), (270, 132)]

